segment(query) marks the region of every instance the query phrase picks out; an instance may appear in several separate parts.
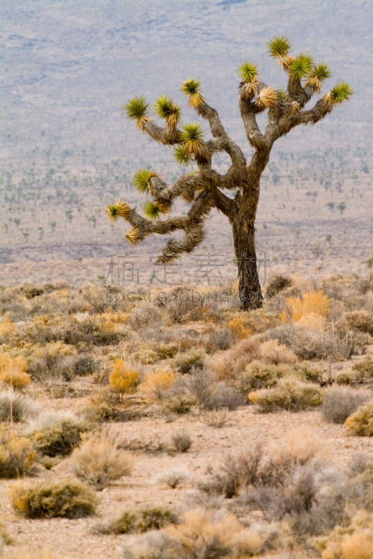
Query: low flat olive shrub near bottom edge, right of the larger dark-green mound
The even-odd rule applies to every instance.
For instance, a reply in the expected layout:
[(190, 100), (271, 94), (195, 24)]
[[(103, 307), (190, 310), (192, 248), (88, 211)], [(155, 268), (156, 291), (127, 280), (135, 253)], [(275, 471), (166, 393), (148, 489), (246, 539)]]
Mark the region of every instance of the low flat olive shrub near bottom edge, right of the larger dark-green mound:
[(112, 523), (115, 534), (136, 534), (149, 530), (160, 530), (178, 523), (174, 511), (165, 507), (146, 507), (137, 511), (125, 511)]

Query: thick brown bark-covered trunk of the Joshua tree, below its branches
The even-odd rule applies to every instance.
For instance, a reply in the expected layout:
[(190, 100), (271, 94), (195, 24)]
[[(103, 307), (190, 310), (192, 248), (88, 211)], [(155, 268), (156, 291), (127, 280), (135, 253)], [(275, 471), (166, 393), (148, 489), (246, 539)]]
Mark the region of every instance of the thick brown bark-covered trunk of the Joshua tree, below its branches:
[(258, 309), (263, 305), (255, 251), (254, 226), (259, 200), (259, 185), (250, 190), (251, 192), (243, 194), (241, 197), (238, 215), (232, 222), (234, 251), (238, 267), (238, 292), (243, 310)]

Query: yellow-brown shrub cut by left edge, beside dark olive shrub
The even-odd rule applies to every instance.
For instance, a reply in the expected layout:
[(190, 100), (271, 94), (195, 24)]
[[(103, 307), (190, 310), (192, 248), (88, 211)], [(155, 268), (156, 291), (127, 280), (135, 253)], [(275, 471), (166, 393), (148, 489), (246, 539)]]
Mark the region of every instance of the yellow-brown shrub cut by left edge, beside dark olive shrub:
[(36, 451), (28, 439), (0, 429), (0, 478), (31, 474), (35, 458)]

